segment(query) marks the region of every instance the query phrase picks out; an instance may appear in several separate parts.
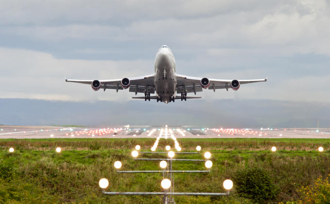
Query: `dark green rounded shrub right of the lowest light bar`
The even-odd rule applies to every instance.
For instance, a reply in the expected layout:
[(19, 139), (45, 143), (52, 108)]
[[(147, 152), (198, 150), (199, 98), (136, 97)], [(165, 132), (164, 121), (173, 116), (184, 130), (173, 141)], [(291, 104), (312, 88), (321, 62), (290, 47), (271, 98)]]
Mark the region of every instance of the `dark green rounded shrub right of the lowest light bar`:
[(267, 171), (261, 167), (238, 170), (233, 180), (239, 196), (252, 199), (257, 203), (272, 200), (278, 194), (278, 187), (273, 184)]

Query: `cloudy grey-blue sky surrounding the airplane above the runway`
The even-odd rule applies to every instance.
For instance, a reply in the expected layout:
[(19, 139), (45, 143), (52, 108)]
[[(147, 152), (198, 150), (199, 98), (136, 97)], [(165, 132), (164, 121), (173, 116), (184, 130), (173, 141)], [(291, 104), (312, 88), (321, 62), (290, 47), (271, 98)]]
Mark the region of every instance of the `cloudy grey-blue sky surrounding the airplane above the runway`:
[[(0, 0), (0, 123), (330, 127), (329, 25), (327, 0)], [(268, 81), (164, 104), (64, 80), (153, 74), (162, 45), (177, 74)]]

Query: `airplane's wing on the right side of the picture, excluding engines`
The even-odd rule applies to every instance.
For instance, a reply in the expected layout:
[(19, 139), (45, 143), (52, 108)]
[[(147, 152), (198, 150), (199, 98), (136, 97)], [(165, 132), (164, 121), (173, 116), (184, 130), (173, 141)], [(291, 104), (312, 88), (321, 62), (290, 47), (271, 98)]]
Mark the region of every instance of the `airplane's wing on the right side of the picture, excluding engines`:
[[(239, 88), (239, 86), (241, 84), (267, 81), (267, 78), (253, 79), (253, 80), (208, 79), (209, 80), (208, 89), (213, 89), (214, 92), (216, 89), (226, 89), (228, 91), (228, 88), (231, 88), (230, 84), (233, 81), (239, 82), (238, 83), (238, 88)], [(204, 78), (176, 74), (176, 80), (177, 80), (176, 92), (177, 93), (195, 93), (195, 94), (196, 94), (196, 92), (202, 92), (203, 91), (203, 87), (201, 85), (202, 79), (204, 79)]]

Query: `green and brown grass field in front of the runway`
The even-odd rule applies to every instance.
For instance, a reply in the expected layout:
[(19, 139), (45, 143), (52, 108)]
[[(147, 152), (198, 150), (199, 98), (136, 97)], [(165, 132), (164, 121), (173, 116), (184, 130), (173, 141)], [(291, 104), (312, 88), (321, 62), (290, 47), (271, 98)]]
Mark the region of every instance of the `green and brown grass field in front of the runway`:
[[(159, 204), (159, 196), (105, 196), (98, 186), (101, 178), (110, 182), (107, 191), (160, 192), (160, 173), (118, 174), (121, 170), (160, 170), (159, 162), (135, 161), (131, 151), (136, 145), (150, 151), (155, 139), (6, 139), (0, 140), (0, 203), (68, 204)], [(201, 154), (175, 158), (204, 159), (212, 153), (210, 173), (175, 174), (175, 192), (225, 192), (225, 179), (234, 181), (228, 197), (177, 196), (177, 204), (279, 203), (301, 200), (301, 187), (330, 173), (330, 139), (178, 139), (182, 151)], [(172, 139), (160, 139), (157, 150), (174, 146)], [(278, 151), (270, 151), (271, 147)], [(325, 150), (319, 152), (318, 147)], [(9, 148), (15, 148), (13, 153)], [(55, 152), (61, 147), (62, 152)], [(165, 158), (143, 154), (139, 158)], [(204, 162), (173, 162), (174, 170), (205, 170)], [(273, 197), (256, 200), (242, 196), (235, 178), (259, 168), (274, 186)], [(245, 174), (244, 174), (245, 175)], [(250, 191), (251, 194), (258, 193)]]

